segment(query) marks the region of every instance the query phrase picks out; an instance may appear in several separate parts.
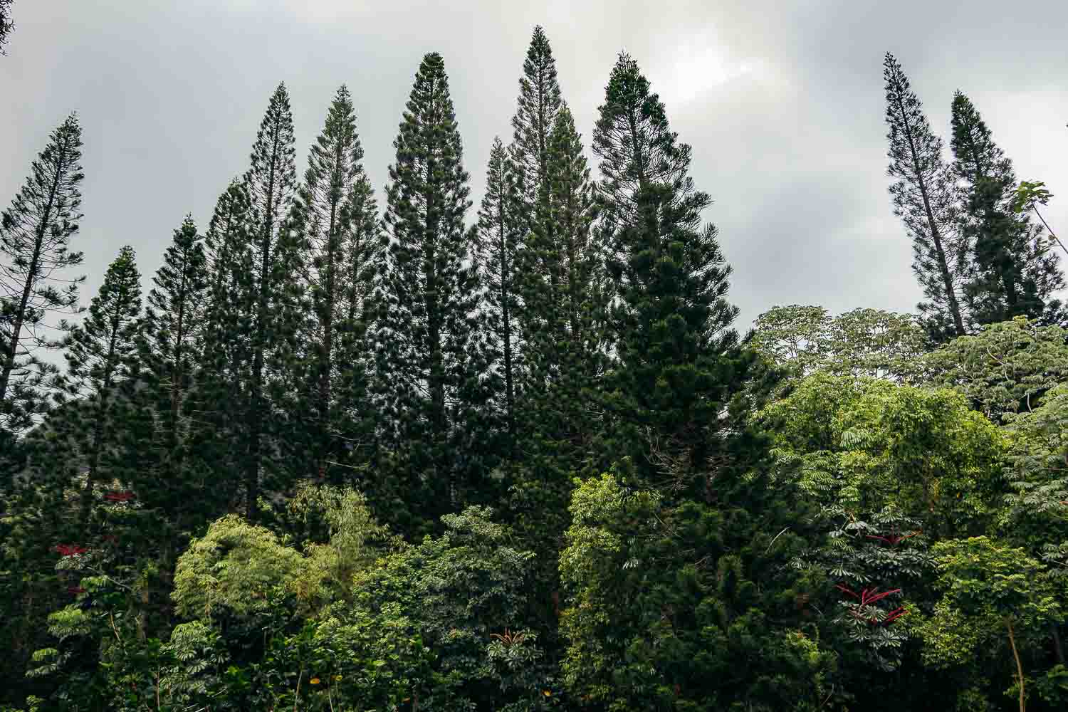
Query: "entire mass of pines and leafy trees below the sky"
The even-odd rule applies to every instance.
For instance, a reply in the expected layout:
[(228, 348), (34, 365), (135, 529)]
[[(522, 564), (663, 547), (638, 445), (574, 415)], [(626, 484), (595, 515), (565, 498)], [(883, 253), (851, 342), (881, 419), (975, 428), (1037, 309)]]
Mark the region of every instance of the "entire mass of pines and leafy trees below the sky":
[(299, 174), (280, 85), (206, 230), (78, 323), (68, 117), (0, 227), (5, 709), (1061, 709), (1050, 195), (884, 78), (920, 316), (744, 337), (627, 54), (595, 179), (535, 28), (477, 210), (439, 54), (381, 207), (348, 90)]

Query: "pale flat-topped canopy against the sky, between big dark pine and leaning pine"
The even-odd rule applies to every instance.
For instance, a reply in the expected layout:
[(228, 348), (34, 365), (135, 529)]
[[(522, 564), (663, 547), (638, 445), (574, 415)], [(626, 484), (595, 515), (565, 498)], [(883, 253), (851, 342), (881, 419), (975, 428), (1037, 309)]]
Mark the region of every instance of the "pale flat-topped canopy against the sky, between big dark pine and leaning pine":
[(831, 316), (821, 306), (790, 304), (757, 317), (752, 346), (800, 376), (826, 370), (911, 380), (927, 334), (911, 314), (858, 308)]

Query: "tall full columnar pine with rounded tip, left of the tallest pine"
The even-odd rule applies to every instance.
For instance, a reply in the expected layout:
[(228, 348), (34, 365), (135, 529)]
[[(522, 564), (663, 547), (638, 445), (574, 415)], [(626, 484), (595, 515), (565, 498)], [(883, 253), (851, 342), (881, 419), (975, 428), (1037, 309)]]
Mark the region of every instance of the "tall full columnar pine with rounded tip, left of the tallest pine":
[(474, 439), (483, 436), (481, 375), (489, 367), (464, 227), (468, 173), (438, 53), (420, 64), (394, 146), (383, 219), (389, 255), (376, 297), (382, 434), (406, 480), (405, 504), (436, 519), (475, 491), (472, 478), (484, 470)]

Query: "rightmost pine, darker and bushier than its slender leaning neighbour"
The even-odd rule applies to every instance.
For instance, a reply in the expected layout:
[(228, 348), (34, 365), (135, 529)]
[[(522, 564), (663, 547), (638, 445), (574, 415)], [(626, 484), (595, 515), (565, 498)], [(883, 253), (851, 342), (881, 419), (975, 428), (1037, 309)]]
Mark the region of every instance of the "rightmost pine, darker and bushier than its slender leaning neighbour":
[(975, 105), (961, 92), (953, 98), (954, 172), (965, 190), (960, 231), (973, 254), (964, 284), (979, 325), (1015, 316), (1057, 321), (1065, 286), (1057, 255), (1041, 239), (1041, 227), (1011, 209), (1012, 161), (993, 142)]

